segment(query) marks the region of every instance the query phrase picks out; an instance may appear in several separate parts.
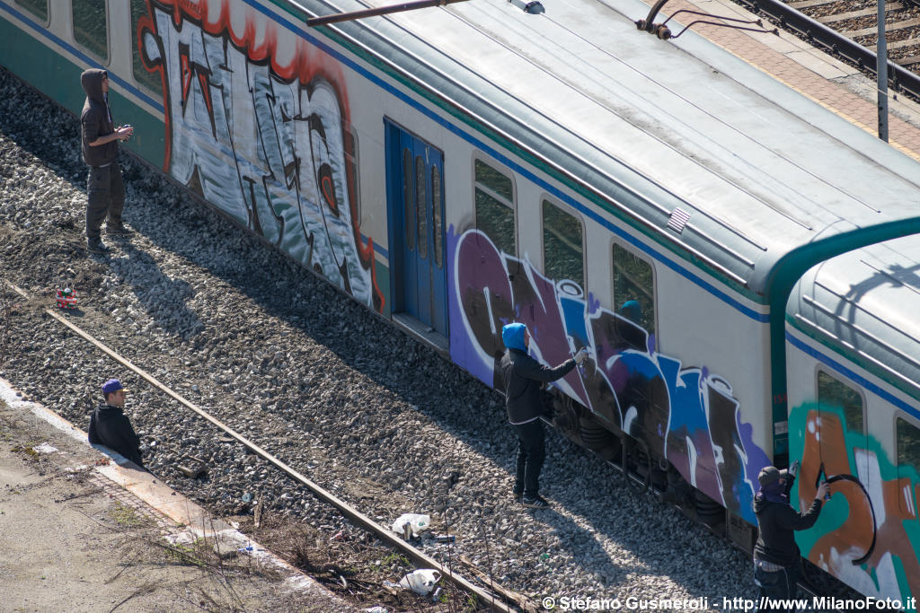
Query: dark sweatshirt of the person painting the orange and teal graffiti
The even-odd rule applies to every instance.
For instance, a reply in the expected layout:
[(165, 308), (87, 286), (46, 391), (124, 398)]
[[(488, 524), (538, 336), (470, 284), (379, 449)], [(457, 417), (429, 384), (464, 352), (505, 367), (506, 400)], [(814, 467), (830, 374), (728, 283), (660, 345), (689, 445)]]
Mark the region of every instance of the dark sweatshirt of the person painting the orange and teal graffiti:
[[(786, 495), (792, 489), (793, 479), (786, 483)], [(799, 564), (799, 545), (796, 544), (796, 530), (805, 530), (814, 526), (821, 515), (821, 500), (811, 503), (806, 513), (799, 514), (788, 502), (767, 500), (758, 493), (753, 499), (753, 512), (760, 525), (757, 544), (753, 548), (754, 560), (773, 562), (787, 568)]]

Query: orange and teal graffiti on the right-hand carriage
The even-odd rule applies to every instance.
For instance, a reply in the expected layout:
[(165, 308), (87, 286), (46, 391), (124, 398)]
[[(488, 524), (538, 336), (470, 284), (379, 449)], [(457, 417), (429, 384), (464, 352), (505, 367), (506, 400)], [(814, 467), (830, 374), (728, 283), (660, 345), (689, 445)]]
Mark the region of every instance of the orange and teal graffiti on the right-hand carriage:
[(818, 404), (789, 415), (789, 451), (801, 457), (799, 508), (818, 482), (831, 499), (810, 530), (796, 533), (802, 555), (868, 596), (920, 595), (920, 481), (913, 466), (897, 466), (891, 452), (859, 430), (848, 431), (842, 410)]

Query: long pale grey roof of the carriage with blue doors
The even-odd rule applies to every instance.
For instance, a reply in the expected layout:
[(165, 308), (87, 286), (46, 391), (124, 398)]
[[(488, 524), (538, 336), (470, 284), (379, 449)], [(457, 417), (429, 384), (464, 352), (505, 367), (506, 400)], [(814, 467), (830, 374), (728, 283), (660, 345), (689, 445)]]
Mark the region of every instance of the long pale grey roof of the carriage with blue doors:
[[(583, 213), (613, 210), (752, 296), (794, 249), (916, 216), (914, 160), (692, 31), (639, 31), (649, 6), (545, 6), (472, 0), (326, 31), (561, 177)], [(689, 214), (682, 233), (667, 228), (676, 209)]]

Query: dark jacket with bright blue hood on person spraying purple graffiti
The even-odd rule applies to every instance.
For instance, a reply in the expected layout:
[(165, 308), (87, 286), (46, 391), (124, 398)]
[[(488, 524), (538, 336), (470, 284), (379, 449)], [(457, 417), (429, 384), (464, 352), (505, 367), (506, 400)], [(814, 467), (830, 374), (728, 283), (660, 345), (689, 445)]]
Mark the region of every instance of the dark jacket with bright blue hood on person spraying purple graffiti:
[(541, 383), (562, 379), (575, 368), (575, 360), (568, 359), (555, 369), (546, 368), (527, 355), (523, 342), (523, 326), (504, 339), (508, 351), (501, 358), (501, 374), (505, 380), (505, 407), (508, 421), (514, 425), (532, 422), (543, 414), (540, 396)]

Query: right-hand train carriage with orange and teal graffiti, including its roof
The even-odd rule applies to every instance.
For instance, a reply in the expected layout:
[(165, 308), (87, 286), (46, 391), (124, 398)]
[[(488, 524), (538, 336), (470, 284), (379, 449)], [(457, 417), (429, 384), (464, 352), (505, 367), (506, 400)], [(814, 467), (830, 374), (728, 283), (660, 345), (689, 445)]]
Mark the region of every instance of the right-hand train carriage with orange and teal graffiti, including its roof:
[[(812, 268), (788, 305), (789, 444), (799, 508), (831, 498), (799, 533), (803, 557), (867, 596), (920, 594), (920, 240)], [(900, 608), (900, 607), (898, 607)]]

